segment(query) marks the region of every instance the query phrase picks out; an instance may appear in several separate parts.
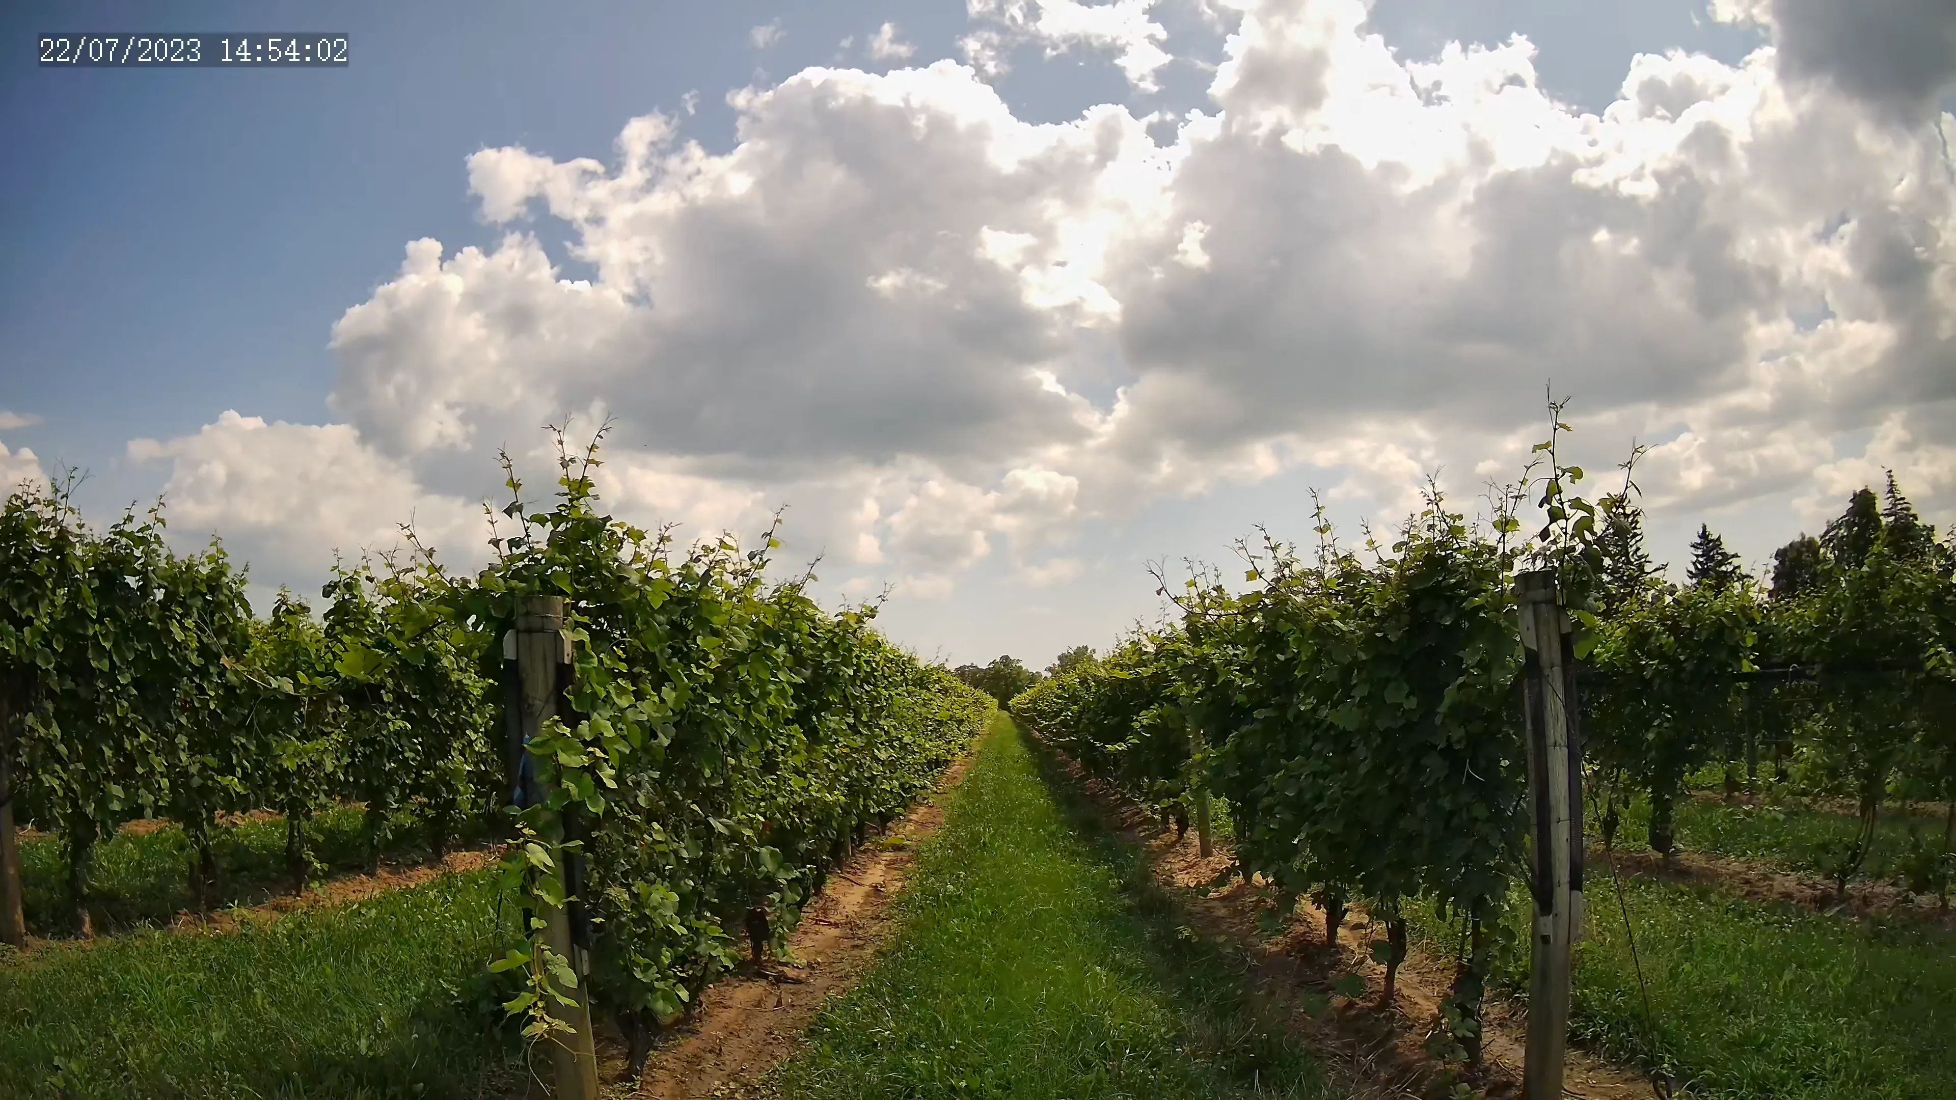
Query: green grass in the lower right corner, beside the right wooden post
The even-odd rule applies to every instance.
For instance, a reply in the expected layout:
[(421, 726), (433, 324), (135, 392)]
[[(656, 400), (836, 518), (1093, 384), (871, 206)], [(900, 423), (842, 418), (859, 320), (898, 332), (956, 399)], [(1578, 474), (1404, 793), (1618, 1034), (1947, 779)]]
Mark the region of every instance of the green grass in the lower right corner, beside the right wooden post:
[[(1625, 879), (1655, 1045), (1616, 891), (1592, 867), (1577, 945), (1573, 1033), (1668, 1065), (1700, 1098), (1946, 1100), (1956, 1096), (1956, 934), (1762, 906), (1717, 891)], [(1526, 891), (1508, 926), (1524, 943), (1496, 985), (1526, 994)], [(1453, 941), (1414, 906), (1430, 949)]]

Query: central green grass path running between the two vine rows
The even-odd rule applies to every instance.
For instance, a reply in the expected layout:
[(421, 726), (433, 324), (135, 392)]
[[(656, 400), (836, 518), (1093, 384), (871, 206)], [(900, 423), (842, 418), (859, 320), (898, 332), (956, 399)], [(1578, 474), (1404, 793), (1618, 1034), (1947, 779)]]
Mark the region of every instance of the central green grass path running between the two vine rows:
[(1178, 926), (1009, 720), (919, 851), (900, 930), (771, 1080), (796, 1100), (1324, 1096), (1242, 963)]

